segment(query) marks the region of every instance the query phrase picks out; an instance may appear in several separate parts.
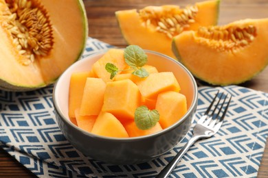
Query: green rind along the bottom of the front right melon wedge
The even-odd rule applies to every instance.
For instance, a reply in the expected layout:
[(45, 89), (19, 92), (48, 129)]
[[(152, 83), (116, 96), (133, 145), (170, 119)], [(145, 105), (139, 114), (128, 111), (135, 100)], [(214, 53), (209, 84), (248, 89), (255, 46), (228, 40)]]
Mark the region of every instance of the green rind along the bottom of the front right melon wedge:
[[(183, 58), (181, 58), (181, 55), (179, 54), (179, 49), (176, 46), (175, 38), (172, 39), (172, 52), (176, 56), (177, 60), (179, 62), (181, 62), (181, 64), (183, 64), (183, 66), (186, 66), (185, 63), (183, 62)], [(260, 70), (257, 71), (256, 73), (254, 73), (254, 75), (250, 76), (247, 79), (241, 79), (241, 80), (230, 82), (230, 83), (216, 83), (214, 81), (210, 81), (210, 79), (205, 79), (203, 77), (200, 77), (197, 73), (194, 73), (194, 71), (192, 71), (189, 67), (186, 66), (186, 68), (188, 68), (188, 70), (190, 71), (190, 73), (192, 73), (192, 75), (194, 75), (194, 77), (196, 77), (197, 79), (201, 79), (202, 81), (205, 81), (208, 84), (211, 84), (213, 86), (229, 86), (229, 85), (243, 84), (243, 83), (245, 83), (245, 81), (251, 80), (256, 75), (258, 75), (260, 72), (262, 72), (266, 68), (266, 66), (268, 66), (268, 58), (267, 58), (267, 64), (263, 65), (263, 68), (260, 68)]]

